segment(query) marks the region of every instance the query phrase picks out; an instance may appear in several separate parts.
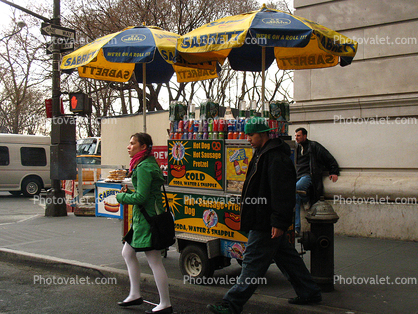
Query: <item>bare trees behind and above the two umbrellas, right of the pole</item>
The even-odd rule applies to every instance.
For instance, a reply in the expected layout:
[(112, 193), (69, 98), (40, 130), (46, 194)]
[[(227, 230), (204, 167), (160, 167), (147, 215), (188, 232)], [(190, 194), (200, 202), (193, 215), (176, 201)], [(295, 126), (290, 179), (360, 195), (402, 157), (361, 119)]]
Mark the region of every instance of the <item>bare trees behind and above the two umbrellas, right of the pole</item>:
[[(282, 2), (271, 2), (267, 6), (287, 10)], [(68, 14), (63, 15), (63, 23), (76, 29), (82, 46), (127, 26), (142, 24), (155, 25), (182, 35), (210, 21), (259, 8), (260, 4), (255, 0), (72, 0), (65, 8)], [(266, 93), (269, 98), (279, 95), (289, 97), (288, 92), (279, 92), (280, 82), (286, 81), (283, 75), (286, 76), (287, 73), (277, 71), (272, 76), (273, 81), (269, 82), (271, 91)], [(68, 80), (73, 82), (68, 88), (81, 86), (77, 83), (81, 79)], [(84, 84), (83, 90), (96, 93), (93, 97), (97, 105), (96, 114), (129, 114), (142, 111), (144, 91), (142, 84), (137, 84), (135, 79), (126, 84), (104, 82), (100, 87), (91, 79), (81, 81)], [(237, 107), (241, 99), (260, 98), (260, 82), (259, 73), (236, 72), (226, 63), (218, 79), (191, 83), (177, 83), (171, 80), (168, 84), (148, 84), (145, 91), (147, 109), (153, 111), (167, 108), (167, 104), (163, 106), (160, 103), (162, 91), (168, 95), (168, 102), (180, 100), (199, 103), (205, 98), (211, 98), (222, 104)], [(108, 90), (105, 92), (106, 88)], [(235, 92), (232, 92), (234, 90)], [(101, 95), (106, 95), (105, 98), (98, 96), (98, 91)], [(107, 107), (105, 109), (101, 106)]]

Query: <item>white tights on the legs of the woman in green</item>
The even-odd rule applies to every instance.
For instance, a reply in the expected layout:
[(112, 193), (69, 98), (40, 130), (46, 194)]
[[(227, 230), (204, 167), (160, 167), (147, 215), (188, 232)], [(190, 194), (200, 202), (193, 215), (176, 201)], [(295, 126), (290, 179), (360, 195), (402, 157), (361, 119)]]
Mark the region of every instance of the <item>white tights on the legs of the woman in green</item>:
[[(170, 307), (171, 303), (170, 295), (168, 292), (168, 277), (161, 258), (161, 251), (152, 250), (145, 251), (144, 253), (147, 257), (148, 265), (151, 267), (152, 273), (154, 274), (155, 284), (157, 285), (158, 294), (160, 295), (160, 303), (155, 308), (153, 308), (153, 311), (159, 311)], [(122, 256), (125, 259), (129, 274), (129, 295), (124, 300), (124, 302), (128, 302), (141, 297), (141, 269), (139, 266), (139, 261), (136, 258), (135, 250), (127, 242), (125, 242), (123, 246)]]

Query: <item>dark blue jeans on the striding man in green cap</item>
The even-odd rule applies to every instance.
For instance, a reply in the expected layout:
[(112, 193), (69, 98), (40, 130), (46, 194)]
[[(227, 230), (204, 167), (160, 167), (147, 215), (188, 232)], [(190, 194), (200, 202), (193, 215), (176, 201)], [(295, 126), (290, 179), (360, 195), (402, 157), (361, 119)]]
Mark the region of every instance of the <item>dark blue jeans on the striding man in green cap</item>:
[(242, 312), (244, 304), (257, 289), (257, 279), (261, 278), (258, 281), (263, 282), (272, 260), (290, 281), (299, 297), (321, 295), (321, 290), (285, 234), (272, 239), (270, 231), (251, 230), (248, 234), (241, 274), (237, 283), (223, 297), (235, 314)]

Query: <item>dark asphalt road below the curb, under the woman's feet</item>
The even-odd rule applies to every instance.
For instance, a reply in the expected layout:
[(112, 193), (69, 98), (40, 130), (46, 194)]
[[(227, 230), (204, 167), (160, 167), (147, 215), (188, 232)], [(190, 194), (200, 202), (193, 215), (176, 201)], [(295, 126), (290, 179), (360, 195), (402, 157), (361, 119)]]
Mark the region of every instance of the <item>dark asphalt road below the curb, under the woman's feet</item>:
[[(0, 262), (0, 313), (143, 313), (153, 305), (120, 308), (116, 302), (128, 285), (100, 274), (69, 273), (22, 264)], [(143, 285), (146, 300), (156, 300), (156, 290)], [(172, 296), (177, 313), (201, 313), (207, 300)]]

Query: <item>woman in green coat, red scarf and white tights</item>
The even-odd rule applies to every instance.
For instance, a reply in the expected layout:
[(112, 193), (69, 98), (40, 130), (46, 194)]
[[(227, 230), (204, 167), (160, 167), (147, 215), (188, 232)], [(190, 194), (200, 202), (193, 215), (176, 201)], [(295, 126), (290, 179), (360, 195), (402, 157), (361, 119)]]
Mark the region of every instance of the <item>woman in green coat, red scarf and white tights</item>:
[(131, 157), (128, 176), (132, 177), (135, 191), (123, 187), (116, 199), (120, 204), (134, 205), (132, 227), (123, 238), (125, 243), (122, 249), (122, 256), (128, 268), (130, 291), (128, 297), (118, 304), (126, 307), (143, 303), (139, 284), (141, 271), (136, 252), (145, 252), (160, 295), (160, 303), (152, 311), (146, 313), (172, 313), (168, 278), (162, 263), (161, 251), (152, 248), (150, 226), (141, 213), (142, 207), (149, 216), (164, 211), (161, 197), (161, 185), (164, 183), (162, 171), (154, 156), (151, 155), (152, 139), (149, 134), (132, 135), (127, 148)]

